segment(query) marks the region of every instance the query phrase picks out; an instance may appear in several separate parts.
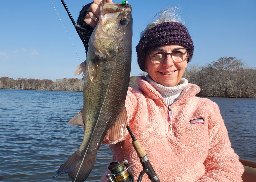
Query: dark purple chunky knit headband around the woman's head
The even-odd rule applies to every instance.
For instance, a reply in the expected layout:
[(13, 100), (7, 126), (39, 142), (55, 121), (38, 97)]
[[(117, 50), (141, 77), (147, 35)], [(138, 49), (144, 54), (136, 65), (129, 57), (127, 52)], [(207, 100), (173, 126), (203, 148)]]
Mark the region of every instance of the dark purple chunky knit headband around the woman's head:
[(145, 32), (143, 37), (141, 37), (139, 44), (136, 46), (140, 69), (145, 71), (144, 67), (148, 50), (168, 44), (180, 45), (190, 49), (187, 62), (190, 61), (193, 56), (194, 46), (187, 28), (178, 22), (164, 22)]

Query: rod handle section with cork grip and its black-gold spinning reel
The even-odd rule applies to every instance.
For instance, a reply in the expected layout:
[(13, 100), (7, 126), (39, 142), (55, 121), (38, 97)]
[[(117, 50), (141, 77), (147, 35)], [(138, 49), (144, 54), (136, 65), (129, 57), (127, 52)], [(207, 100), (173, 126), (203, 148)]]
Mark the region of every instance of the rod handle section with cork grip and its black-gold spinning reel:
[[(148, 178), (152, 182), (160, 182), (160, 179), (158, 178), (158, 176), (156, 175), (156, 172), (154, 171), (152, 165), (150, 164), (148, 156), (147, 156), (144, 148), (140, 144), (140, 141), (134, 137), (134, 135), (132, 134), (132, 131), (128, 125), (126, 126), (126, 128), (129, 132), (129, 134), (131, 135), (132, 145), (133, 145), (134, 149), (136, 150), (136, 153), (139, 156), (140, 162), (143, 167), (143, 170), (140, 172), (137, 182), (141, 182), (144, 174), (147, 174)], [(124, 163), (124, 165), (123, 165), (123, 163)], [(114, 161), (114, 162), (110, 163), (110, 165), (108, 166), (108, 169), (111, 171), (111, 173), (114, 173), (114, 174), (106, 174), (106, 178), (108, 179), (108, 181), (109, 182), (117, 182), (117, 181), (118, 182), (134, 182), (134, 176), (130, 170), (130, 167), (132, 165), (129, 166), (127, 163), (128, 163), (127, 160)], [(113, 176), (114, 178), (112, 179), (112, 178), (110, 178), (110, 176)]]

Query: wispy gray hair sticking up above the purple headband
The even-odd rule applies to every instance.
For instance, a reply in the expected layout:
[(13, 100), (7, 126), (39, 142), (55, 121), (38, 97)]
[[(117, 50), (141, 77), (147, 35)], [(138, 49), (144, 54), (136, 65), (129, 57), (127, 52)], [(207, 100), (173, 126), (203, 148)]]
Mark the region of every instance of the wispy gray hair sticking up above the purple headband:
[(144, 35), (145, 32), (160, 23), (173, 21), (183, 24), (184, 22), (182, 21), (182, 17), (178, 14), (178, 11), (180, 11), (180, 9), (174, 6), (170, 6), (164, 8), (161, 11), (158, 11), (156, 15), (152, 18), (151, 22), (140, 33), (140, 38)]

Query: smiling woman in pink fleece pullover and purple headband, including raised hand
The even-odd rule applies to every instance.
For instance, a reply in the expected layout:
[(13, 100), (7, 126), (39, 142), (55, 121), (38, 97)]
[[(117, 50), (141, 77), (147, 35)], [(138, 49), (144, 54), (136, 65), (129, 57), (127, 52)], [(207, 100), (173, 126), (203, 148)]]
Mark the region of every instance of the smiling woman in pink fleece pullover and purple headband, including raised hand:
[[(100, 3), (95, 0), (80, 12), (77, 29), (87, 42)], [(136, 47), (139, 67), (148, 75), (138, 77), (139, 88), (128, 90), (128, 124), (161, 181), (242, 181), (244, 167), (231, 148), (217, 104), (196, 97), (200, 88), (182, 78), (193, 56), (193, 41), (186, 27), (168, 15), (163, 11), (148, 25)], [(109, 145), (111, 161), (132, 162), (137, 179), (142, 166), (128, 133), (118, 142), (123, 149), (119, 143)], [(108, 135), (103, 143), (109, 144)], [(105, 174), (102, 181), (107, 181)], [(150, 180), (144, 175), (142, 181)]]

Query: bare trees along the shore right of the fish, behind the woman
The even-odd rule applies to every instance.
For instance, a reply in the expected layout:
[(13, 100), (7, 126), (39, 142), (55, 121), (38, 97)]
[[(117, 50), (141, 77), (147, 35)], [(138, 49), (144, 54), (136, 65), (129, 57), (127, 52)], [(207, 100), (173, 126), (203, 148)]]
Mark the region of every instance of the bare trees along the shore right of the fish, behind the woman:
[[(256, 98), (256, 69), (247, 68), (241, 60), (221, 57), (207, 66), (191, 63), (184, 77), (201, 88), (197, 96)], [(137, 87), (136, 78), (131, 77), (130, 86)]]

